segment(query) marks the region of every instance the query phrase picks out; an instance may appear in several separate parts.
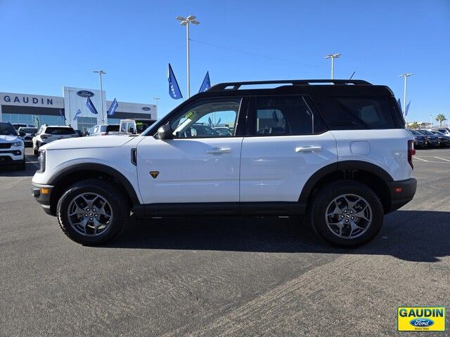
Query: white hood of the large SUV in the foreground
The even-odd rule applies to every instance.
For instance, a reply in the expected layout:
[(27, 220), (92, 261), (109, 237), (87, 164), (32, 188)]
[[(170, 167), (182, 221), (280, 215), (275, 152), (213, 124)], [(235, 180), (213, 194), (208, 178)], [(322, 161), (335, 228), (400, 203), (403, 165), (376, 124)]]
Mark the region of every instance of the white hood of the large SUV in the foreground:
[(94, 147), (119, 147), (136, 137), (130, 136), (97, 136), (76, 137), (54, 140), (53, 142), (39, 147), (41, 150), (64, 150), (64, 149), (86, 149)]

